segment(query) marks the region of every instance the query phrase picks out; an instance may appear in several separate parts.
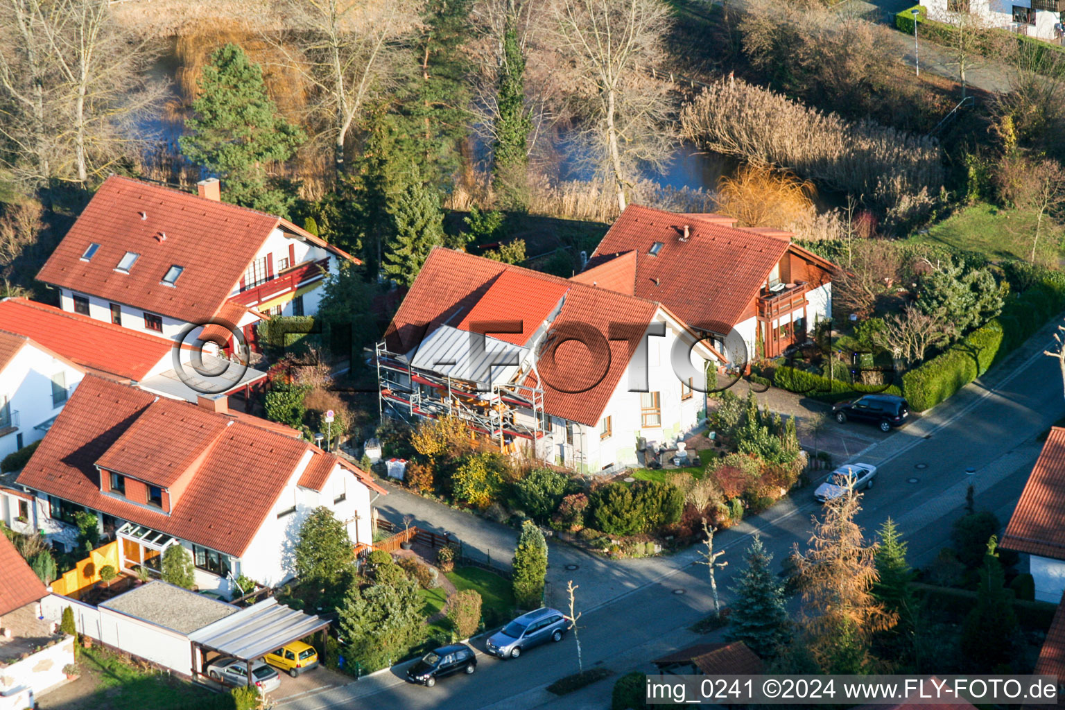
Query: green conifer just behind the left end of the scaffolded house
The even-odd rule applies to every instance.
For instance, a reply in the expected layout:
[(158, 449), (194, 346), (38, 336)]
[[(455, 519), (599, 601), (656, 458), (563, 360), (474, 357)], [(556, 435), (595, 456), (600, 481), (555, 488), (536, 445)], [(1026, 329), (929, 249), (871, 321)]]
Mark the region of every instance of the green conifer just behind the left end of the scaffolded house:
[(444, 241), (443, 213), (437, 192), (421, 182), (411, 182), (400, 194), (393, 211), (395, 234), (384, 253), (384, 275), (403, 285), (414, 283), (432, 247)]

